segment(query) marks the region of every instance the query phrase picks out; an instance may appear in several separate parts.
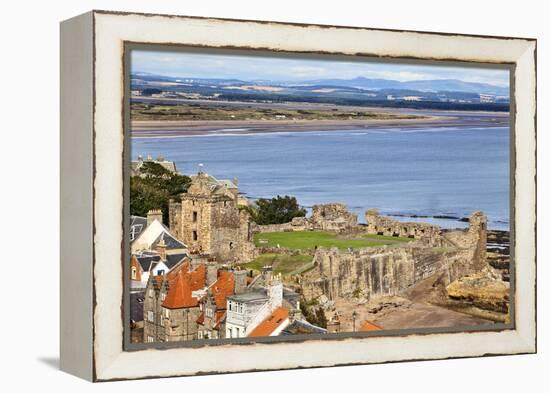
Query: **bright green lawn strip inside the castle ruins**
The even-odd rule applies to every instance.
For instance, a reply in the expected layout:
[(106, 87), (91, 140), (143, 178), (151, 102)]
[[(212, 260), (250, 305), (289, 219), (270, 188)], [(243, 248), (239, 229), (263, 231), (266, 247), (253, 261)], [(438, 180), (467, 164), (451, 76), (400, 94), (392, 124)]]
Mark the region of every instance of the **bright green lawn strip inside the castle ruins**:
[(411, 239), (391, 236), (362, 235), (357, 239), (338, 239), (334, 233), (321, 231), (268, 232), (254, 235), (257, 247), (277, 247), (304, 250), (318, 247), (338, 247), (339, 249), (382, 246)]

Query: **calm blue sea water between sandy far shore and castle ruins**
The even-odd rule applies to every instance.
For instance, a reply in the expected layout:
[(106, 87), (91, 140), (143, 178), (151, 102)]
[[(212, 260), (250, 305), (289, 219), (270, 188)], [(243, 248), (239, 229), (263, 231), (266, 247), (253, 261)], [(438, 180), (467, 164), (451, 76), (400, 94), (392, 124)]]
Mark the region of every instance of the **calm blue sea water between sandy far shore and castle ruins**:
[[(363, 214), (488, 216), (509, 227), (508, 128), (388, 128), (132, 138), (132, 159), (163, 155), (184, 174), (198, 164), (237, 177), (251, 198), (293, 195), (300, 204), (343, 202)], [(457, 220), (399, 218), (464, 227)]]

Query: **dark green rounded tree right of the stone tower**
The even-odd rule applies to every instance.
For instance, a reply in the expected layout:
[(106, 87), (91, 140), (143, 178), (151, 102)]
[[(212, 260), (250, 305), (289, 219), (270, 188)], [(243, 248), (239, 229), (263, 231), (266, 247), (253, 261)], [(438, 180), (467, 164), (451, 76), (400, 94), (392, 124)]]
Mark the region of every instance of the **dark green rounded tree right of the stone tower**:
[(305, 217), (306, 210), (295, 197), (277, 195), (271, 199), (259, 199), (256, 202), (256, 211), (252, 215), (257, 224), (283, 224), (290, 222), (294, 217)]

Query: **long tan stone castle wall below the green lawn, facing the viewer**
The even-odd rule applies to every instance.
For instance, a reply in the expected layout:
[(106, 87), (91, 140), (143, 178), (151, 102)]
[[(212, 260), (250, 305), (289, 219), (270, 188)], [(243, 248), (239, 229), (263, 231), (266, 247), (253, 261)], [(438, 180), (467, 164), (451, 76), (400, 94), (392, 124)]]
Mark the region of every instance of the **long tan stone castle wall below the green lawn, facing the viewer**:
[(436, 273), (444, 273), (450, 283), (487, 265), (483, 214), (474, 213), (470, 228), (455, 240), (453, 247), (414, 242), (349, 252), (320, 248), (313, 259), (315, 268), (302, 276), (302, 292), (307, 300), (321, 295), (330, 300), (396, 295)]

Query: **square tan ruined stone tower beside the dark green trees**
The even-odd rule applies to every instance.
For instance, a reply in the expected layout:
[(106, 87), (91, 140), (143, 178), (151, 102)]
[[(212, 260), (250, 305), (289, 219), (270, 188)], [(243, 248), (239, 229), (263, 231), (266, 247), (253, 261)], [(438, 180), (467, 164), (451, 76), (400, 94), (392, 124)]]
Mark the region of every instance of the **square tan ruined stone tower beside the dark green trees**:
[(238, 188), (204, 172), (191, 176), (181, 202), (169, 204), (170, 229), (192, 254), (231, 262), (250, 241), (249, 221), (238, 208)]

